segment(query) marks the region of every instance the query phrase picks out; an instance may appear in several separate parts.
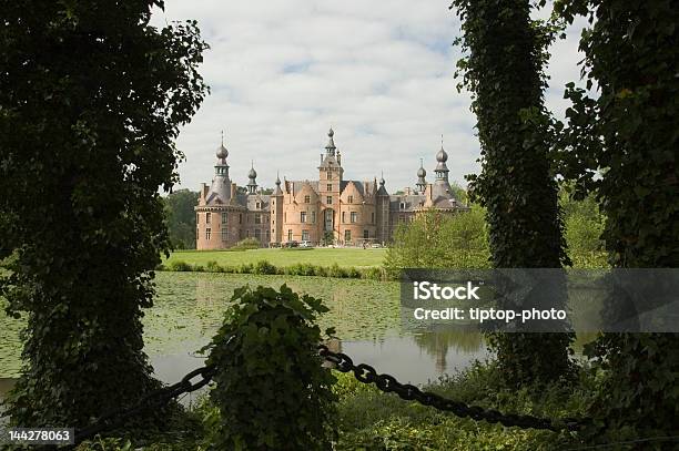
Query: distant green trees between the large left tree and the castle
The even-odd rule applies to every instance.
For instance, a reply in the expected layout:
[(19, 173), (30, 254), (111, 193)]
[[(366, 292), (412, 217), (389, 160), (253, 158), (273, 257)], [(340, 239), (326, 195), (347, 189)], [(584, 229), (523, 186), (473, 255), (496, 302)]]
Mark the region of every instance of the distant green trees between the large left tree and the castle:
[(199, 193), (179, 189), (164, 198), (170, 242), (176, 249), (195, 249), (195, 211)]

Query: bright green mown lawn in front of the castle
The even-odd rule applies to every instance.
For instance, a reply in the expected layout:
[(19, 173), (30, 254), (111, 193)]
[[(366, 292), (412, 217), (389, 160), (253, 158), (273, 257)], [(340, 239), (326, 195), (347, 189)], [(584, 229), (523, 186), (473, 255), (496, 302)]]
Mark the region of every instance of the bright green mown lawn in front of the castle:
[(331, 266), (336, 263), (343, 267), (381, 266), (386, 249), (362, 248), (314, 248), (314, 249), (250, 249), (250, 250), (181, 250), (173, 253), (165, 263), (185, 262), (191, 265), (205, 265), (216, 262), (220, 265), (235, 266), (267, 260), (277, 267), (296, 263)]

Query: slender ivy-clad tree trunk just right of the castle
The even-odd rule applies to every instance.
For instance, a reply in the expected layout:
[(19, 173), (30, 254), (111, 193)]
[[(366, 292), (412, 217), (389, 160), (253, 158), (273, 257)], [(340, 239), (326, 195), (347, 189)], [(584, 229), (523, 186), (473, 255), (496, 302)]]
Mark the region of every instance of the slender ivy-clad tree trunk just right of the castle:
[[(469, 192), (487, 208), (493, 265), (561, 267), (569, 260), (544, 107), (544, 65), (555, 30), (530, 19), (529, 0), (454, 0), (452, 8), (463, 21), (457, 43), (466, 52), (458, 88), (472, 92), (482, 147), (483, 171), (468, 176)], [(572, 339), (572, 334), (495, 334), (489, 342), (505, 380), (517, 386), (569, 372)]]

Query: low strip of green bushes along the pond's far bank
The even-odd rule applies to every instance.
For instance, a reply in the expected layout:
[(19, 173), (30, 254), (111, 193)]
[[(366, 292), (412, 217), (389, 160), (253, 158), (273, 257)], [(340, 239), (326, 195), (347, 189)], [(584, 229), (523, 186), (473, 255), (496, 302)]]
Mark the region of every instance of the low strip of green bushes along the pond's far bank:
[(156, 270), (184, 271), (184, 273), (225, 273), (225, 274), (254, 274), (265, 276), (316, 276), (334, 277), (342, 279), (369, 279), (388, 280), (384, 268), (371, 266), (366, 268), (341, 267), (336, 263), (331, 266), (318, 266), (307, 263), (298, 263), (288, 266), (275, 266), (267, 260), (255, 264), (220, 265), (216, 262), (207, 262), (205, 265), (192, 265), (186, 262), (175, 260), (166, 265), (159, 265)]

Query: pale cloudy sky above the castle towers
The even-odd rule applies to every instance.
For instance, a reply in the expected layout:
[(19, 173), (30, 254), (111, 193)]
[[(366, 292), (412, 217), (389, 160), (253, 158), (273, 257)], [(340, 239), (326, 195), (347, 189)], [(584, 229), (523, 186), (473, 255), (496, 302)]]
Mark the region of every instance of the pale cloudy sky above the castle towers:
[[(195, 19), (211, 49), (201, 72), (212, 93), (178, 145), (181, 185), (210, 182), (224, 130), (232, 178), (254, 161), (261, 186), (276, 171), (317, 178), (327, 130), (335, 130), (345, 177), (387, 189), (414, 185), (419, 158), (430, 181), (440, 136), (450, 178), (478, 172), (469, 96), (453, 76), (459, 21), (449, 0), (165, 0), (153, 22)], [(564, 84), (579, 78), (581, 27), (553, 48), (548, 106), (561, 115)]]

